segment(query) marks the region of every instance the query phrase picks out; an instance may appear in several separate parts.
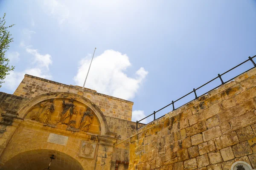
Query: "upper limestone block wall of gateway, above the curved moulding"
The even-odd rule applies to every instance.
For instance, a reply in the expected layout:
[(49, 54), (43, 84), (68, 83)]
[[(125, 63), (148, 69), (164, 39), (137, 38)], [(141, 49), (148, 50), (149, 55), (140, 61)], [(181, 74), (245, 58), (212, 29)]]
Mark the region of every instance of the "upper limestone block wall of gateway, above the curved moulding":
[(35, 96), (50, 92), (70, 92), (79, 94), (97, 105), (104, 115), (131, 121), (133, 102), (100, 94), (91, 89), (82, 89), (79, 86), (65, 85), (27, 74), (17, 87), (14, 95), (32, 99)]

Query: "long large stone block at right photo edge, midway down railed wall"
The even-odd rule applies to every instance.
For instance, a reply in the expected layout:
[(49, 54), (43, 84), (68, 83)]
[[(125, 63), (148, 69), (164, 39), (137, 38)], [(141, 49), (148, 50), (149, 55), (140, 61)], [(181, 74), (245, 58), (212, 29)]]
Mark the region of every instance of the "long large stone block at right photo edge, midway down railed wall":
[(254, 112), (249, 112), (230, 120), (232, 130), (238, 130), (254, 123), (256, 123), (256, 116)]

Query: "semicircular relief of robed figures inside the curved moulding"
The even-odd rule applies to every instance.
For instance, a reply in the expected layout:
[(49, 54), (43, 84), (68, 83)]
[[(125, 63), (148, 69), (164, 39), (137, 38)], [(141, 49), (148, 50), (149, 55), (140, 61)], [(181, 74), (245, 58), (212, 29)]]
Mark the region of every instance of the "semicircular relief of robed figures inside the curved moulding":
[(89, 107), (75, 99), (48, 99), (30, 109), (25, 119), (47, 125), (67, 125), (69, 130), (88, 132), (97, 117)]

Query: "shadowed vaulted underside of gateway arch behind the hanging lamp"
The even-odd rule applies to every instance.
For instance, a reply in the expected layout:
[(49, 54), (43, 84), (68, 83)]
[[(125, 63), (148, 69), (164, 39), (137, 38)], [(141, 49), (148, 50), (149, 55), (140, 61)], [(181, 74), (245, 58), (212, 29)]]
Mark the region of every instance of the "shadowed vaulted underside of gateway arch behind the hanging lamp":
[(12, 157), (1, 170), (43, 170), (49, 166), (50, 156), (54, 155), (51, 170), (84, 170), (73, 157), (57, 150), (29, 150)]

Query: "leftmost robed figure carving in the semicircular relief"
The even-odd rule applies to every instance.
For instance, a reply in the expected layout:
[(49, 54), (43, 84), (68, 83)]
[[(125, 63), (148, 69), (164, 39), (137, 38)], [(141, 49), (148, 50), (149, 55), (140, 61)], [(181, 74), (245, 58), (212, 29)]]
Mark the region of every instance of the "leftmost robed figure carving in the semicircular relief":
[(40, 104), (41, 108), (38, 112), (37, 121), (41, 123), (48, 123), (52, 112), (54, 111), (53, 99)]

